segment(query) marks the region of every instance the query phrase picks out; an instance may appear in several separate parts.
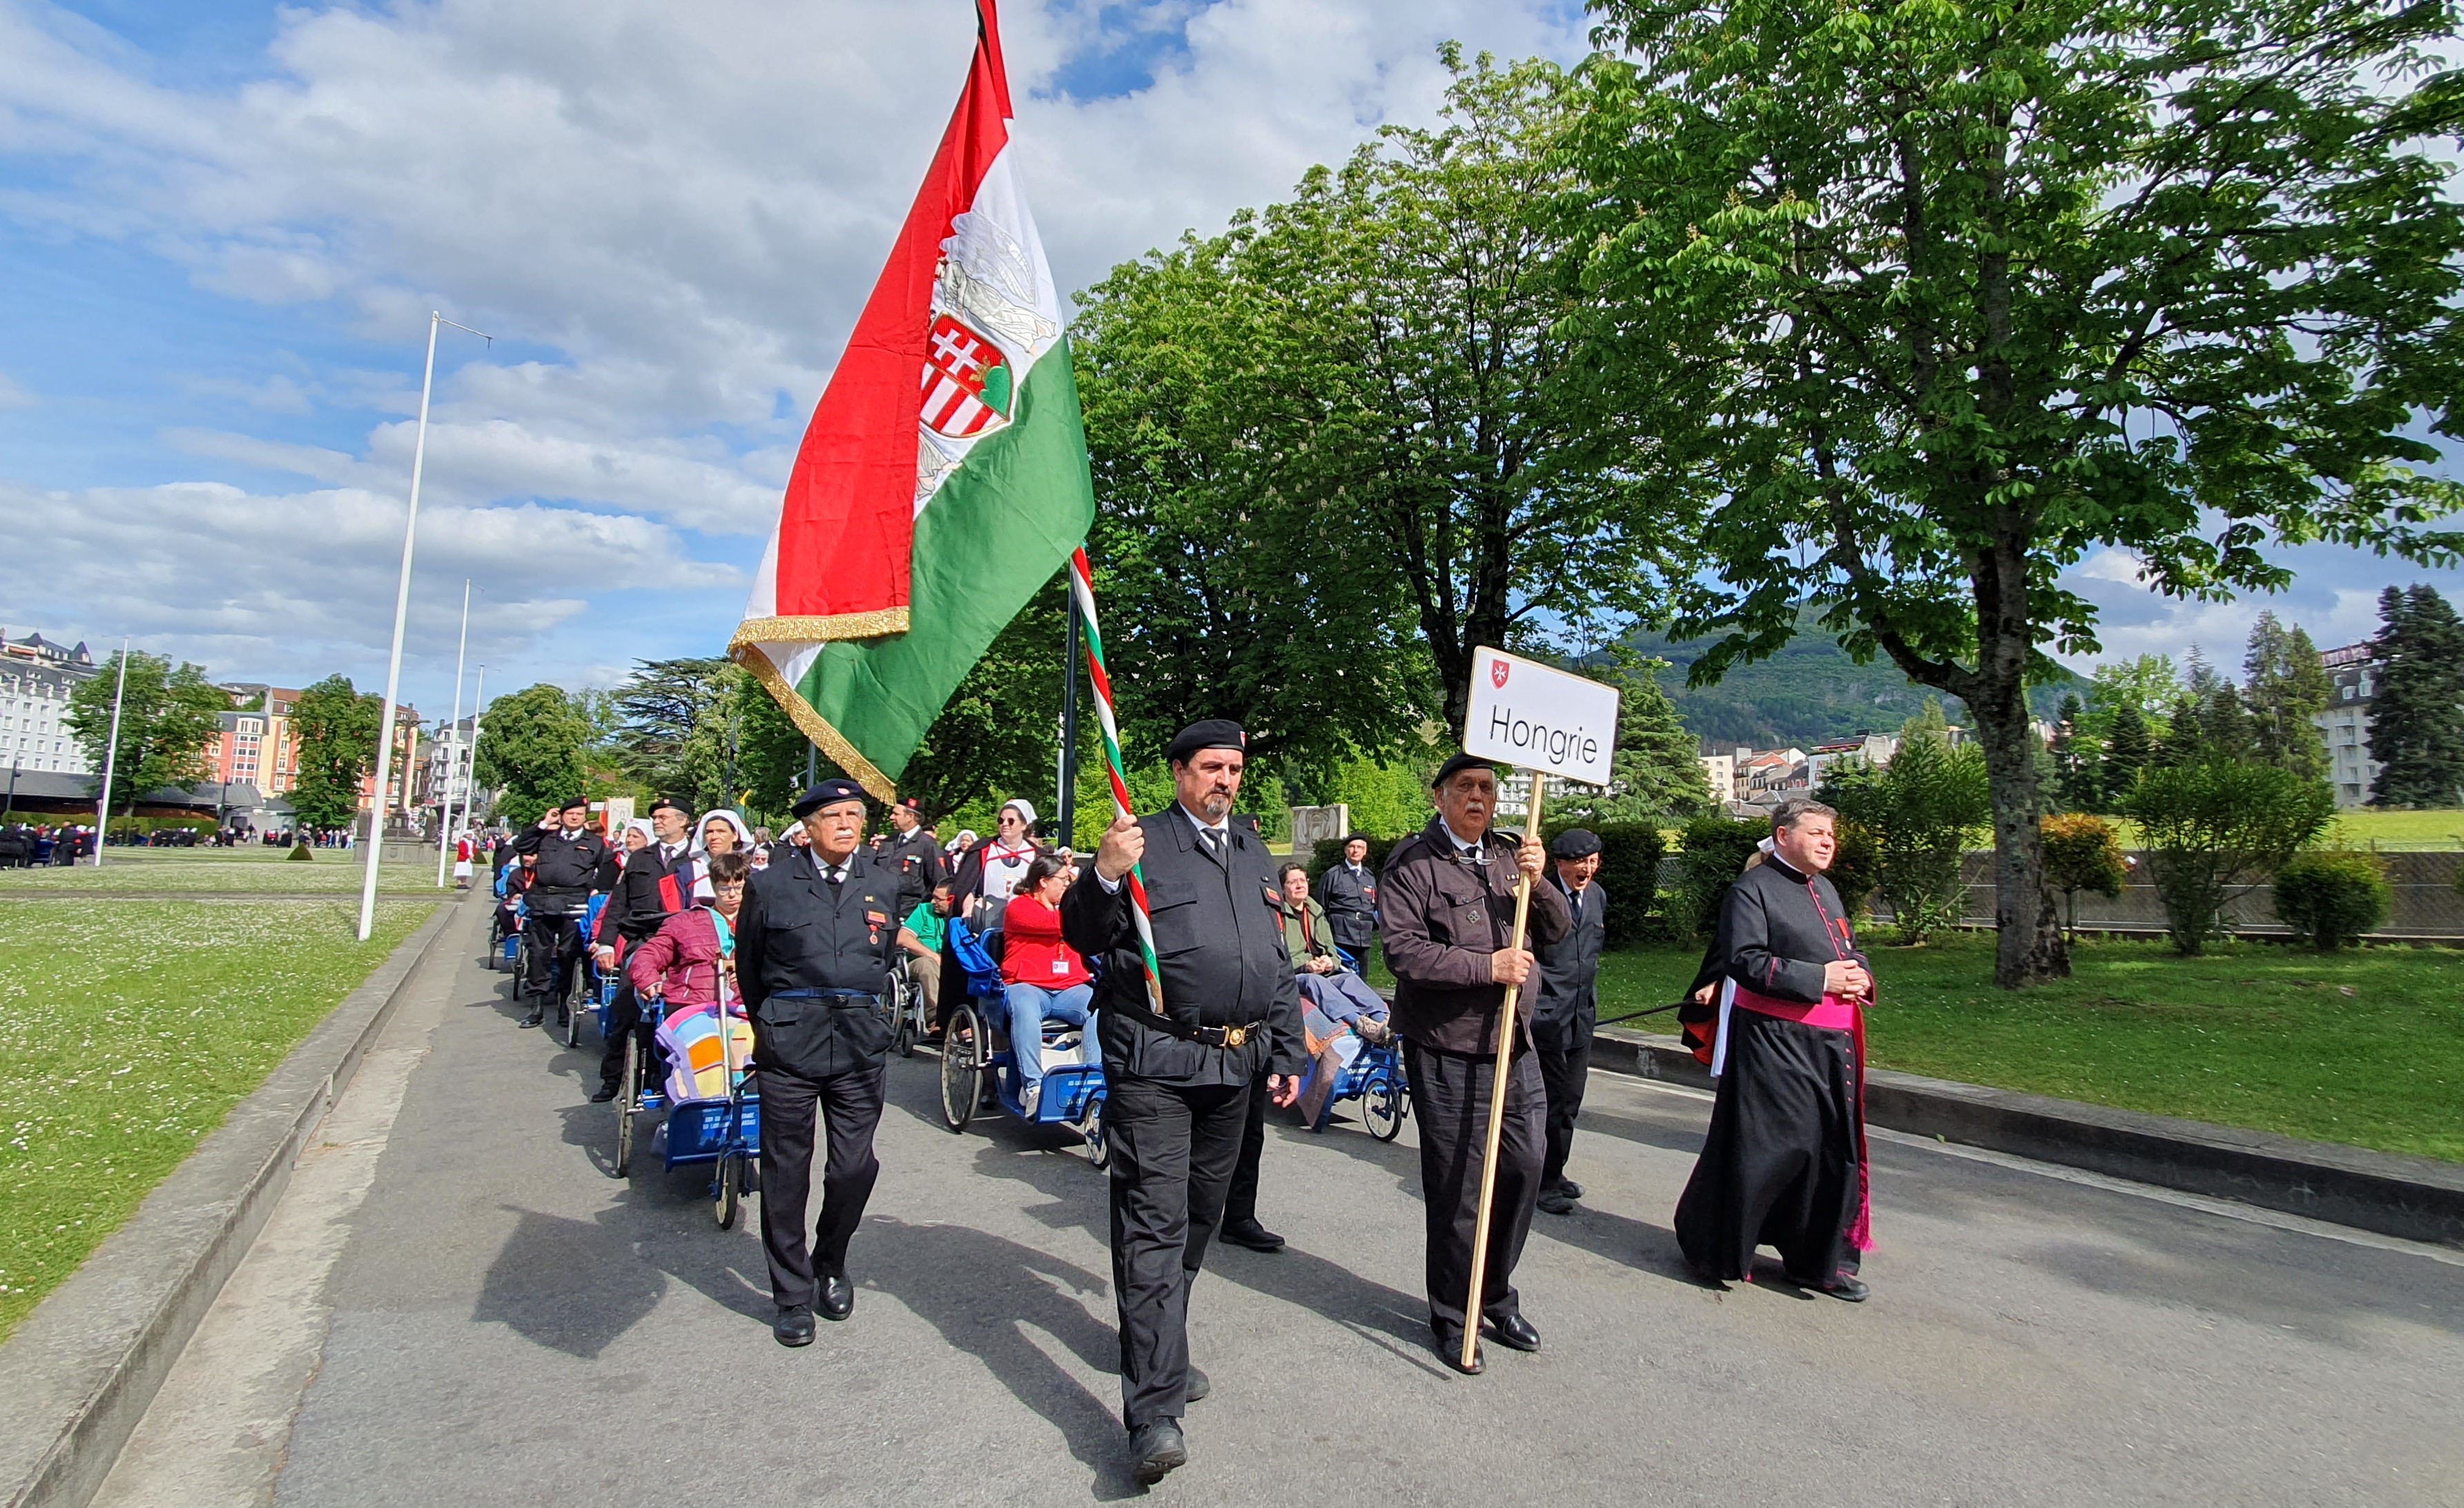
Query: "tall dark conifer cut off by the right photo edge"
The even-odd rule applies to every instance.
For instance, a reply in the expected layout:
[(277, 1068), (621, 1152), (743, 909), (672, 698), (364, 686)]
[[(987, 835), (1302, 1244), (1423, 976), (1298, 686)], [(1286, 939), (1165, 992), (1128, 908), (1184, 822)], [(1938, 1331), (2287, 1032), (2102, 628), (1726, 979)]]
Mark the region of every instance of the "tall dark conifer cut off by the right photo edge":
[(2464, 806), (2464, 621), (2434, 586), (2378, 596), (2370, 806)]

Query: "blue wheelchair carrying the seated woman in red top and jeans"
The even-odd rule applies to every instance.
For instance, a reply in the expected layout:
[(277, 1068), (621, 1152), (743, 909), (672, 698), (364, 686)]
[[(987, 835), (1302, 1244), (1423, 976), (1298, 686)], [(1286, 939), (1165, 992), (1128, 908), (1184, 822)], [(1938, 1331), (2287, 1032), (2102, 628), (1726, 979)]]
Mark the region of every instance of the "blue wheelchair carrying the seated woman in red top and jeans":
[[(949, 949), (966, 971), (966, 998), (954, 1000), (941, 1032), (941, 1124), (966, 1131), (988, 1099), (1027, 1126), (1067, 1126), (1087, 1141), (1087, 1161), (1111, 1163), (1104, 1141), (1104, 1052), (1094, 1023), (1045, 1023), (1045, 1089), (1030, 1116), (1020, 1104), (1018, 1055), (1008, 1045), (1008, 986), (1000, 983), (1000, 929), (981, 939), (958, 917)], [(998, 1037), (998, 1040), (995, 1040)]]

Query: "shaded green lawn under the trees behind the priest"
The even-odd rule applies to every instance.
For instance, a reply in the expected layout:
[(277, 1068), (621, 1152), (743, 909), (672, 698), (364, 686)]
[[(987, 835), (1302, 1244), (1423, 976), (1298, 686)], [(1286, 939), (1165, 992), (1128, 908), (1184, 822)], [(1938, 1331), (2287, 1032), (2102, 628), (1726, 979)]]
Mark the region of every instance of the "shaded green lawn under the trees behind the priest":
[[(1676, 1000), (1700, 959), (1609, 954), (1602, 1018)], [(2464, 1161), (2464, 951), (2082, 941), (2072, 978), (2020, 993), (1993, 988), (1986, 934), (1873, 961), (1875, 1067)]]

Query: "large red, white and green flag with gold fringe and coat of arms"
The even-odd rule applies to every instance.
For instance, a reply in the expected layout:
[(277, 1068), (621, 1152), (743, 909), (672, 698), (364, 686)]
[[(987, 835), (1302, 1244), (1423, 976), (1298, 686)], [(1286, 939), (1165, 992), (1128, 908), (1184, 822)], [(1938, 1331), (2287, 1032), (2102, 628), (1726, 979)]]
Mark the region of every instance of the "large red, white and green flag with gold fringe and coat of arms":
[(729, 653), (882, 801), (1094, 522), (993, 0), (890, 266), (813, 409)]

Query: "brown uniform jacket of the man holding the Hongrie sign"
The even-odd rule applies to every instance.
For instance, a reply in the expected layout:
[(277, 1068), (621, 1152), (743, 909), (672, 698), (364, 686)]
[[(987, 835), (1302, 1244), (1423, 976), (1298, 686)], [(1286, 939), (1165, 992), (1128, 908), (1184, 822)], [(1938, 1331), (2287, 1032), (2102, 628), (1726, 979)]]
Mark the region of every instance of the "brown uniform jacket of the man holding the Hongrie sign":
[[(1506, 986), (1488, 956), (1515, 934), (1515, 838), (1488, 830), (1486, 865), (1454, 853), (1439, 818), (1404, 838), (1377, 877), (1377, 939), (1395, 971), (1395, 1030), (1439, 1052), (1493, 1055)], [(1533, 885), (1525, 946), (1565, 936), (1572, 914), (1555, 885)], [(1530, 1047), (1540, 971), (1515, 995), (1515, 1037)]]

